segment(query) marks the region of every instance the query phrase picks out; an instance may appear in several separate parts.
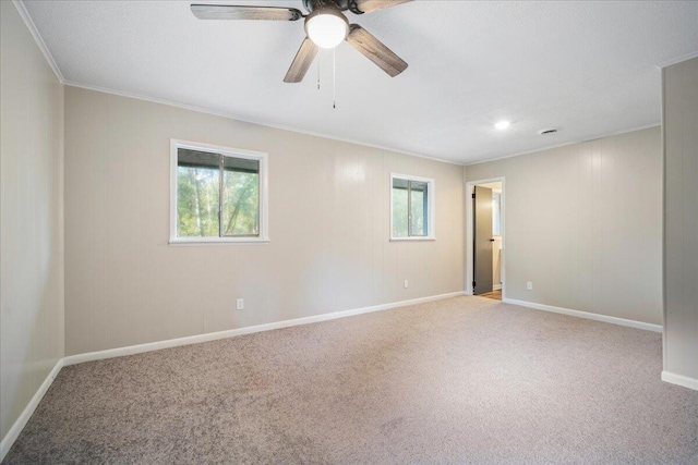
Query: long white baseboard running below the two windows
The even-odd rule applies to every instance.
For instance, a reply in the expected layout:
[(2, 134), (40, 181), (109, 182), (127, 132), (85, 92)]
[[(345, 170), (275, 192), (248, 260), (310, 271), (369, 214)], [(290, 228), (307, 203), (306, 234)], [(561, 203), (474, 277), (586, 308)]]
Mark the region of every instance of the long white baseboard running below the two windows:
[(372, 311), (387, 310), (389, 308), (405, 307), (407, 305), (423, 304), (425, 302), (441, 301), (443, 298), (458, 297), (464, 295), (462, 291), (448, 294), (432, 295), (429, 297), (412, 298), (410, 301), (394, 302), (390, 304), (374, 305), (371, 307), (353, 308), (350, 310), (335, 311), (332, 314), (315, 315), (312, 317), (294, 318), (291, 320), (277, 321), (273, 323), (258, 325), (246, 328), (231, 329), (227, 331), (209, 332), (206, 334), (190, 335), (186, 338), (169, 339), (166, 341), (151, 342), (146, 344), (130, 345), (127, 347), (110, 348), (107, 351), (88, 352), (86, 354), (69, 355), (63, 358), (63, 365), (75, 365), (84, 362), (103, 360), (105, 358), (121, 357), (124, 355), (141, 354), (144, 352), (159, 351), (161, 348), (177, 347), (180, 345), (198, 344), (202, 342), (216, 341), (219, 339), (234, 338), (236, 335), (252, 334), (273, 329), (289, 328), (298, 325), (308, 325), (320, 321), (334, 320), (337, 318), (351, 317), (354, 315), (369, 314)]

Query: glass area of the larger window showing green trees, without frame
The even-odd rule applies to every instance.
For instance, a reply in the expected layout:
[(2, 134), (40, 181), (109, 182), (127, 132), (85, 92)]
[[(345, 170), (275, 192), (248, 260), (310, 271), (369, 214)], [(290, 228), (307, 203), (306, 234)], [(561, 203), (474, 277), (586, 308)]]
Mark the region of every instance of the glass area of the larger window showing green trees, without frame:
[(260, 161), (178, 148), (178, 237), (260, 235)]

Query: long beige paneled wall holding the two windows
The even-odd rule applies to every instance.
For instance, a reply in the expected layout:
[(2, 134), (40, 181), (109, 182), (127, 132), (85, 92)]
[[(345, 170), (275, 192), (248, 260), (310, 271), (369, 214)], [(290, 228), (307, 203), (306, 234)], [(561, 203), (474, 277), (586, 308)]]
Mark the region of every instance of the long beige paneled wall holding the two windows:
[[(168, 245), (170, 138), (269, 154), (270, 244)], [(388, 242), (392, 171), (435, 242)], [(460, 166), (67, 87), (65, 186), (69, 355), (462, 291)]]

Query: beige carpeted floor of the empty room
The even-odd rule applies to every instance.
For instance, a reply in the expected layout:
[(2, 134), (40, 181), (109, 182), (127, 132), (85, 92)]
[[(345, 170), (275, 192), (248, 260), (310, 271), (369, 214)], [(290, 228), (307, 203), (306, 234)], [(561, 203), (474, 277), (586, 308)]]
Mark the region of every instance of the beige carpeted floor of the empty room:
[(661, 335), (458, 297), (65, 367), (7, 463), (697, 464)]

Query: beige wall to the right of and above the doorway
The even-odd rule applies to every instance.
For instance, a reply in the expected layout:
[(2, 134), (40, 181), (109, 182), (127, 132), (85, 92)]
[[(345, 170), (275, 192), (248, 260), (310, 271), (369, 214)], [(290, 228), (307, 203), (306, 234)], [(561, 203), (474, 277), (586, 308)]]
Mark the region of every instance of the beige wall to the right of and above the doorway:
[(662, 323), (659, 127), (469, 166), (466, 175), (506, 178), (506, 297)]

